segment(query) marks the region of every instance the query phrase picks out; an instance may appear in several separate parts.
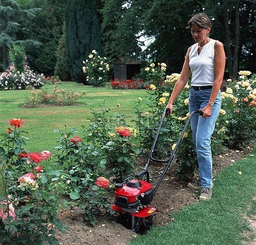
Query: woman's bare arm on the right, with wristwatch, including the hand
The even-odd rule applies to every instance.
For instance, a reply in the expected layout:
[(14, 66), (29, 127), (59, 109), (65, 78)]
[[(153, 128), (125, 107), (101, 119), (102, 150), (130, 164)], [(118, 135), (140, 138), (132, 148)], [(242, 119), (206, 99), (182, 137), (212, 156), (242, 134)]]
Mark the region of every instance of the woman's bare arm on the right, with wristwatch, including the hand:
[[(209, 102), (215, 102), (215, 99), (219, 93), (219, 89), (221, 88), (223, 74), (225, 70), (225, 61), (226, 56), (223, 48), (223, 44), (221, 42), (215, 42), (214, 44), (214, 83), (212, 86), (211, 96)], [(202, 109), (204, 112), (203, 118), (207, 118), (211, 116), (212, 106), (207, 104), (206, 107)]]

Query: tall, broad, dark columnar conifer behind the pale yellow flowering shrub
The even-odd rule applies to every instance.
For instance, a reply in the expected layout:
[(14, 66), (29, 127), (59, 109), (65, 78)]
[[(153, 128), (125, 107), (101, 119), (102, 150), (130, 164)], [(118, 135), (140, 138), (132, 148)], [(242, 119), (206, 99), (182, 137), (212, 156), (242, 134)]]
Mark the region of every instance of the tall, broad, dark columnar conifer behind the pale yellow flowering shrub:
[(101, 33), (95, 0), (68, 0), (65, 10), (66, 47), (72, 78), (86, 84), (83, 60), (92, 50), (102, 55)]

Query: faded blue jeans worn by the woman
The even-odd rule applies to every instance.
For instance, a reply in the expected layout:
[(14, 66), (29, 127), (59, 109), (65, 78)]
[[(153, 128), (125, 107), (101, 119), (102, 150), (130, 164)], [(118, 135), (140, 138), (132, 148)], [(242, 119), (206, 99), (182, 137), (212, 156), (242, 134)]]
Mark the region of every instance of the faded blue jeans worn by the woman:
[[(189, 112), (203, 109), (211, 95), (211, 88), (195, 90), (190, 88), (189, 92)], [(191, 118), (191, 129), (193, 143), (197, 154), (200, 178), (202, 187), (212, 187), (212, 156), (211, 156), (211, 135), (214, 131), (215, 122), (221, 109), (221, 91), (219, 91), (214, 105), (212, 106), (211, 116), (202, 118), (194, 115)]]

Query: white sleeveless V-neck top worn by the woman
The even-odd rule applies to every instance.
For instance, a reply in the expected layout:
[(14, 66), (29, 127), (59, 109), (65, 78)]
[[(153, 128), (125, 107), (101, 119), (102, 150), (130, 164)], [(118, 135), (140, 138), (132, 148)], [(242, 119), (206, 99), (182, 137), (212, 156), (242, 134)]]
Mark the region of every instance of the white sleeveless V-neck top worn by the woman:
[(211, 39), (203, 46), (198, 55), (198, 43), (192, 45), (189, 52), (189, 67), (191, 68), (192, 86), (207, 86), (214, 82), (214, 44), (217, 40)]

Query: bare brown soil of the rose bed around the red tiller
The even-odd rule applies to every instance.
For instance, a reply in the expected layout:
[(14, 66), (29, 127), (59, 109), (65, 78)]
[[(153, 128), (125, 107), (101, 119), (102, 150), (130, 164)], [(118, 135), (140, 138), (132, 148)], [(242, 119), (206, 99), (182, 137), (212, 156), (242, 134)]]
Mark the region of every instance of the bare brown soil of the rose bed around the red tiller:
[[(230, 166), (234, 161), (242, 159), (249, 149), (230, 150), (227, 154), (219, 155), (214, 159), (213, 176), (215, 176), (223, 168)], [(247, 152), (246, 152), (247, 151)], [(138, 158), (139, 166), (144, 166), (147, 159)], [(152, 176), (151, 184), (153, 186), (158, 181), (163, 166), (159, 163), (153, 163), (148, 170), (150, 173), (158, 173)], [(150, 206), (158, 208), (160, 212), (153, 218), (154, 225), (166, 225), (172, 220), (172, 213), (181, 210), (183, 207), (198, 202), (199, 192), (193, 191), (187, 187), (188, 181), (181, 180), (175, 175), (177, 165), (170, 166), (169, 170), (159, 189), (154, 196), (154, 200)], [(110, 192), (109, 200), (113, 202), (114, 191)], [(108, 220), (106, 215), (98, 217), (98, 223), (90, 226), (83, 222), (83, 211), (79, 208), (73, 210), (64, 210), (60, 212), (59, 218), (65, 223), (69, 230), (65, 234), (57, 231), (57, 238), (63, 245), (126, 245), (129, 240), (137, 236), (131, 230), (127, 230), (114, 219)], [(254, 221), (255, 222), (255, 221)]]

